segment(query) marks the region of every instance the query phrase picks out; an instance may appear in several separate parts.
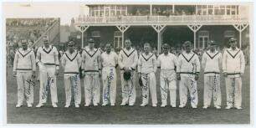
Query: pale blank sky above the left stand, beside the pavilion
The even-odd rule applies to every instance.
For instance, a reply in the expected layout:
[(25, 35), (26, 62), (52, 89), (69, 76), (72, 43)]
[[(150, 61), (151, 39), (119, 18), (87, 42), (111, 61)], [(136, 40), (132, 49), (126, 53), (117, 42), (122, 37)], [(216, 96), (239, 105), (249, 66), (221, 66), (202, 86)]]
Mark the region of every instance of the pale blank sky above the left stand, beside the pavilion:
[[(79, 2), (3, 3), (4, 18), (60, 18), (60, 24), (70, 24), (82, 12)], [(89, 9), (84, 8), (85, 15)]]

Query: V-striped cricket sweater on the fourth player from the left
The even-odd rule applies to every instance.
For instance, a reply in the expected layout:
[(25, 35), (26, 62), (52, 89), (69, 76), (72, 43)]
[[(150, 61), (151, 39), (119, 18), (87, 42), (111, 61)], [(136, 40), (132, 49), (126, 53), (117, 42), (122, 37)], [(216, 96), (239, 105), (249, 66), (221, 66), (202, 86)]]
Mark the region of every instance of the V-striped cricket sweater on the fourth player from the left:
[(85, 72), (95, 72), (101, 69), (100, 50), (89, 48), (84, 49), (82, 53), (82, 69)]

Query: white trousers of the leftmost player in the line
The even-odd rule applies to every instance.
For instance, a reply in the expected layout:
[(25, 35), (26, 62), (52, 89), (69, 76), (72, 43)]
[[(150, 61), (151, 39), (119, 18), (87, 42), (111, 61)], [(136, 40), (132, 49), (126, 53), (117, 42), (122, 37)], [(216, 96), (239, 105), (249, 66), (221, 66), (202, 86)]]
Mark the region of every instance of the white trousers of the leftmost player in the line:
[(33, 86), (35, 85), (32, 78), (32, 71), (19, 72), (17, 71), (17, 85), (18, 85), (18, 104), (23, 105), (24, 97), (28, 104), (33, 104)]

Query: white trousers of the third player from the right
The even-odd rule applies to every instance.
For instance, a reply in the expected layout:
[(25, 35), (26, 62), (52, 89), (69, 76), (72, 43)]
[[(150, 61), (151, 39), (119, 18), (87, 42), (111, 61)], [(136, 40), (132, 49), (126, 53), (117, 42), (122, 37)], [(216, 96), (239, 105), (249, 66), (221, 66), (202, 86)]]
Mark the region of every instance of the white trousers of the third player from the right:
[[(182, 75), (182, 74), (181, 74)], [(187, 76), (181, 76), (180, 81), (180, 105), (185, 106), (187, 104), (187, 89), (189, 90), (189, 100), (193, 107), (197, 107), (198, 95), (197, 95), (197, 80), (195, 80), (194, 74), (188, 74)]]

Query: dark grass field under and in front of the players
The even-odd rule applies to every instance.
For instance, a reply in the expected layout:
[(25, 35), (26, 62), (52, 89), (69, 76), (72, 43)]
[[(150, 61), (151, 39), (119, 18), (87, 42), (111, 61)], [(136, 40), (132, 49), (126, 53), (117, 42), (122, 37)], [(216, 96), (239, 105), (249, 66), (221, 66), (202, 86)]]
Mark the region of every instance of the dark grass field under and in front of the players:
[[(156, 108), (150, 105), (140, 107), (141, 105), (141, 88), (136, 86), (136, 105), (120, 106), (121, 91), (120, 79), (117, 81), (117, 95), (115, 107), (97, 106), (84, 107), (84, 82), (82, 82), (82, 103), (80, 108), (72, 106), (64, 108), (64, 79), (63, 73), (60, 73), (57, 79), (58, 86), (58, 108), (53, 108), (51, 104), (35, 108), (38, 104), (39, 83), (34, 88), (34, 105), (28, 108), (23, 102), (23, 107), (15, 108), (17, 104), (17, 82), (12, 76), (12, 68), (8, 68), (7, 76), (7, 123), (8, 124), (249, 124), (250, 123), (250, 78), (249, 66), (246, 66), (243, 75), (243, 110), (225, 110), (226, 106), (226, 87), (223, 77), (221, 77), (222, 89), (222, 109), (216, 110), (211, 105), (207, 110), (202, 109), (203, 98), (203, 76), (197, 82), (198, 91), (198, 109), (192, 109), (188, 102), (186, 108), (171, 108), (168, 99), (166, 108), (161, 108), (161, 95), (159, 90), (159, 75), (157, 75), (157, 99)], [(119, 71), (117, 72), (118, 75)], [(159, 74), (159, 73), (158, 73)], [(101, 88), (102, 91), (102, 88)], [(177, 89), (177, 105), (179, 105), (179, 96)], [(100, 103), (101, 103), (100, 99)]]

